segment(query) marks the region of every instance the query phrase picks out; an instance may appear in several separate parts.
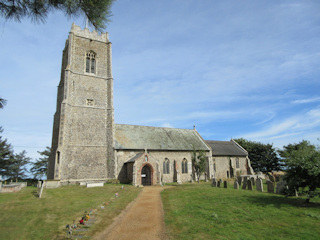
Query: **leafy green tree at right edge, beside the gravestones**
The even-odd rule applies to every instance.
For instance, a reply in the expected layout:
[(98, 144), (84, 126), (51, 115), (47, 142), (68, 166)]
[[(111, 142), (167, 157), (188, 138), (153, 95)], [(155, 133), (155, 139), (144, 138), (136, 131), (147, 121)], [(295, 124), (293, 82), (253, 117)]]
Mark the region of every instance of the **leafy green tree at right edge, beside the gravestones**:
[(284, 146), (279, 154), (286, 164), (285, 180), (289, 188), (306, 189), (309, 201), (320, 187), (320, 150), (304, 140)]

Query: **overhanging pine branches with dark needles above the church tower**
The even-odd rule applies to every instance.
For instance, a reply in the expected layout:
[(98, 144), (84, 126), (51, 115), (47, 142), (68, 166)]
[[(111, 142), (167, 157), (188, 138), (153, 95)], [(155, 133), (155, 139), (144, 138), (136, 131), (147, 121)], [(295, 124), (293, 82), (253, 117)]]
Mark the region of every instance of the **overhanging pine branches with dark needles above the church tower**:
[(43, 22), (52, 10), (60, 10), (70, 17), (84, 13), (89, 22), (101, 31), (110, 21), (113, 2), (114, 0), (0, 0), (0, 14), (16, 21), (29, 17)]

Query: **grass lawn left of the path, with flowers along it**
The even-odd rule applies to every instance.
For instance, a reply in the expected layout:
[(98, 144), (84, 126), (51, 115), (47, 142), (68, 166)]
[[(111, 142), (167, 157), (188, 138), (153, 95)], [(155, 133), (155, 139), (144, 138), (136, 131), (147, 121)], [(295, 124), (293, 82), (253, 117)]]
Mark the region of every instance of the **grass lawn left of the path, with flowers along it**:
[[(65, 186), (45, 189), (44, 198), (35, 197), (36, 188), (27, 187), (18, 193), (0, 194), (0, 239), (61, 239), (66, 224), (79, 219), (84, 211), (99, 207), (103, 202), (111, 203), (98, 211), (98, 221), (90, 228), (93, 234), (112, 222), (140, 189), (119, 184), (107, 184), (103, 188)], [(118, 192), (119, 197), (114, 198)]]

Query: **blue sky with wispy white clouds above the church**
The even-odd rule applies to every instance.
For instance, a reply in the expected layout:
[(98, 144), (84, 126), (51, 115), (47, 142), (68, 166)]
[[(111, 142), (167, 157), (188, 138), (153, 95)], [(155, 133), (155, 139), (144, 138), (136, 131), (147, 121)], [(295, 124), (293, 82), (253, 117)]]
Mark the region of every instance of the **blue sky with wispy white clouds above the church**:
[[(118, 0), (116, 123), (192, 128), (276, 147), (320, 136), (320, 2)], [(16, 152), (51, 145), (61, 54), (72, 22), (0, 22), (0, 125)]]

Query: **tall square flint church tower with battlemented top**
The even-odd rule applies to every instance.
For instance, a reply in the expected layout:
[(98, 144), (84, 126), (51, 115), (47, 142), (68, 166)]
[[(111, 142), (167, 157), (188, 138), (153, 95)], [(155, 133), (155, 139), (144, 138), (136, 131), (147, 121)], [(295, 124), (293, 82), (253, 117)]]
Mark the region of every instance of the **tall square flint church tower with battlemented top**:
[(115, 178), (108, 34), (72, 25), (62, 56), (48, 179)]

